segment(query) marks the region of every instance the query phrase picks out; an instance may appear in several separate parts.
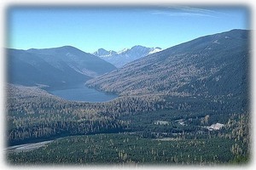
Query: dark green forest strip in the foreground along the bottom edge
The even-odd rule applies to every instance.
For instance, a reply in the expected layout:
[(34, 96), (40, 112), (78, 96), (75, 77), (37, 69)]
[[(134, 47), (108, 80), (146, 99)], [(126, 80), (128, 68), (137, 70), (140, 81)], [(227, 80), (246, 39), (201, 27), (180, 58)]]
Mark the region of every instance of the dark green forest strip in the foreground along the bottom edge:
[(8, 154), (11, 164), (227, 164), (231, 139), (145, 139), (131, 133), (66, 137), (37, 150)]

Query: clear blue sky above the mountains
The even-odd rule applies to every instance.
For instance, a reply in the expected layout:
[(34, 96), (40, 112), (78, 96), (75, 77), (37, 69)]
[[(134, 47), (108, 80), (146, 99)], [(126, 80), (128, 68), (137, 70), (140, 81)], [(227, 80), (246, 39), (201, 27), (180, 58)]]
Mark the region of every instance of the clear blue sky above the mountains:
[(250, 29), (246, 7), (10, 7), (7, 48), (71, 45), (92, 53), (134, 45), (169, 48), (209, 34)]

